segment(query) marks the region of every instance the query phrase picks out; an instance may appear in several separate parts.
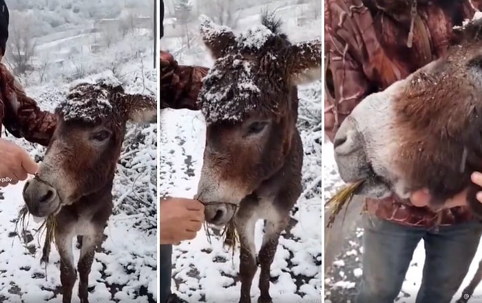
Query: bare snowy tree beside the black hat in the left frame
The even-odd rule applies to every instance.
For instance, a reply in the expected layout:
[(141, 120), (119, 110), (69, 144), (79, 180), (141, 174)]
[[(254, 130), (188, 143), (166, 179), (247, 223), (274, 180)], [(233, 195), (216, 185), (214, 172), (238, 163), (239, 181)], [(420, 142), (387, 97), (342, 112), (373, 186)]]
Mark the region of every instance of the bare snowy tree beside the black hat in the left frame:
[(10, 20), (10, 37), (7, 46), (7, 60), (15, 74), (24, 74), (30, 68), (35, 54), (34, 24), (32, 16), (12, 11)]

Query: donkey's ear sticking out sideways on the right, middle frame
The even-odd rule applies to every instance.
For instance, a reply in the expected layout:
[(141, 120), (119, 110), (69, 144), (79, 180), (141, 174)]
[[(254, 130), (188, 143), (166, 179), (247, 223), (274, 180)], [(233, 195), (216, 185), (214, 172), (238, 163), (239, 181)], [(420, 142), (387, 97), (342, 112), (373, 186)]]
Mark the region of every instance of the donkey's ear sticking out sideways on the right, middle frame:
[(282, 57), (292, 85), (304, 85), (322, 78), (322, 41), (291, 45)]

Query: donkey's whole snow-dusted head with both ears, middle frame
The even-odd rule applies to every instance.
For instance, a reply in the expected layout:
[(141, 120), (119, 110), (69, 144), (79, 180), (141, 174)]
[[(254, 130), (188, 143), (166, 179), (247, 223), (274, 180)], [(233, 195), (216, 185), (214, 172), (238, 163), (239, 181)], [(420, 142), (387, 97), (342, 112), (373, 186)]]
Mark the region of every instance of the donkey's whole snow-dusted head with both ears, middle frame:
[(229, 205), (283, 166), (295, 133), (296, 86), (322, 75), (321, 41), (291, 44), (280, 25), (266, 13), (262, 25), (235, 36), (201, 17), (202, 39), (216, 59), (198, 98), (207, 122), (198, 199), (210, 223), (229, 221)]

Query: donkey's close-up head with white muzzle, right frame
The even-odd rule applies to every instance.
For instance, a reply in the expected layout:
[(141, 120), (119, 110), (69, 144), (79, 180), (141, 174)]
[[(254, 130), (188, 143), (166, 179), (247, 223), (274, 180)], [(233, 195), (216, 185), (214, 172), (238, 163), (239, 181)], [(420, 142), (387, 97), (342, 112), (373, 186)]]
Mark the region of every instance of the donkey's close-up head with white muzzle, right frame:
[(364, 180), (358, 194), (384, 198), (428, 188), (430, 205), (470, 186), (482, 170), (482, 19), (454, 28), (454, 45), (385, 91), (366, 97), (339, 127), (335, 160), (342, 179)]

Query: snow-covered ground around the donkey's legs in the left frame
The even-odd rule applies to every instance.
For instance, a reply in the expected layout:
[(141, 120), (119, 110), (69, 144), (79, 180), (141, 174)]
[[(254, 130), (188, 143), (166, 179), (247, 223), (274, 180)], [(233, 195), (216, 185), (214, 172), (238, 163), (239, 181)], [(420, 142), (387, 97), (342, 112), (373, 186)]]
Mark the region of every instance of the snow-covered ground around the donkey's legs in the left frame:
[[(36, 238), (30, 234), (23, 235), (23, 238), (28, 238), (28, 243), (24, 245), (15, 232), (14, 218), (23, 205), (23, 185), (24, 182), (21, 182), (1, 190), (0, 214), (3, 220), (0, 223), (0, 243), (3, 243), (3, 249), (0, 251), (0, 300), (61, 302), (60, 260), (56, 249), (52, 247), (50, 264), (45, 269), (40, 265), (41, 249)], [(148, 302), (147, 296), (136, 295), (140, 287), (156, 294), (155, 279), (152, 282), (156, 274), (156, 239), (132, 228), (130, 221), (125, 215), (113, 216), (109, 220), (103, 252), (96, 253), (92, 265), (89, 287), (94, 287), (94, 291), (90, 293), (90, 302)], [(35, 225), (30, 223), (30, 227)], [(34, 234), (33, 229), (31, 234)], [(132, 243), (136, 243), (135, 249)], [(75, 260), (78, 260), (79, 252), (75, 250)], [(132, 274), (127, 274), (129, 271)], [(116, 300), (112, 300), (109, 287), (116, 287), (116, 284), (123, 285), (123, 289), (114, 291)], [(74, 287), (74, 297), (76, 291), (77, 286)], [(78, 302), (78, 299), (74, 298), (72, 302)]]

